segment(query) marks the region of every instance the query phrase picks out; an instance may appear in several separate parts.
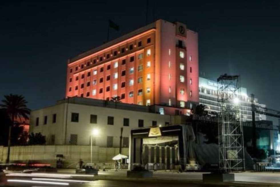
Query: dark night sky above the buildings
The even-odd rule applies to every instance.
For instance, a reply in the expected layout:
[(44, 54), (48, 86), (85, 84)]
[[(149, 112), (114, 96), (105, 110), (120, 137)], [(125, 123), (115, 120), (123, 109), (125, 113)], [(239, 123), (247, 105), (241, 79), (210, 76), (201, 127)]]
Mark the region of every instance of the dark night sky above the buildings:
[[(0, 5), (0, 99), (22, 94), (29, 108), (65, 94), (67, 59), (146, 24), (143, 1), (14, 2)], [(148, 22), (180, 21), (199, 33), (199, 71), (238, 74), (248, 94), (280, 110), (280, 1), (149, 1)]]

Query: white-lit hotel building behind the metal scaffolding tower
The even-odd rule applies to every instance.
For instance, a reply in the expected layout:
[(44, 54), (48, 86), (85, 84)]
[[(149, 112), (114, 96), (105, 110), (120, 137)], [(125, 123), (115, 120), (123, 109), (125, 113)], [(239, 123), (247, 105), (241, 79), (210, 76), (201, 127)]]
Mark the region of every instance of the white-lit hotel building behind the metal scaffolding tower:
[[(251, 98), (247, 95), (247, 89), (241, 87), (241, 114), (243, 121), (252, 121), (252, 108)], [(219, 112), (217, 102), (217, 82), (199, 77), (199, 104), (207, 106), (206, 110), (212, 112)], [(258, 99), (255, 98), (255, 105), (265, 107), (264, 104), (259, 104)], [(256, 114), (255, 120), (266, 120), (266, 116), (262, 114)]]

